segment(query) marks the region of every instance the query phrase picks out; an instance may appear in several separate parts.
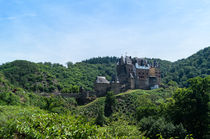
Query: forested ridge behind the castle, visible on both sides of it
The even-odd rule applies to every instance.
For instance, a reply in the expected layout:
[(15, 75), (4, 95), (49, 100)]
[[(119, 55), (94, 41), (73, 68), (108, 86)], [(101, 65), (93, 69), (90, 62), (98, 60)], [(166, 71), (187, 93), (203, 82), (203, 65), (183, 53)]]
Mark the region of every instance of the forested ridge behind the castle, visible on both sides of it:
[[(68, 67), (50, 62), (16, 60), (0, 66), (0, 87), (20, 87), (33, 92), (78, 92), (79, 87), (83, 87), (91, 91), (96, 76), (103, 75), (111, 80), (116, 75), (117, 59), (91, 58), (76, 64), (68, 62)], [(148, 60), (159, 62), (164, 84), (173, 80), (183, 86), (189, 78), (210, 75), (210, 47), (173, 63), (161, 59)]]

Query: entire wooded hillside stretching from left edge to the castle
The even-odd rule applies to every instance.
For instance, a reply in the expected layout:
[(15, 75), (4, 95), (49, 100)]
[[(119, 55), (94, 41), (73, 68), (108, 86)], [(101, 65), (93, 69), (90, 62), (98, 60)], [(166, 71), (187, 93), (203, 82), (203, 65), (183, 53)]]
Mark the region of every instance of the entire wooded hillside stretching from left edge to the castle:
[(33, 63), (16, 60), (0, 66), (5, 80), (14, 87), (32, 92), (78, 92), (79, 87), (93, 90), (96, 76), (104, 75), (111, 80), (115, 75), (115, 64), (76, 63), (68, 68), (60, 64)]

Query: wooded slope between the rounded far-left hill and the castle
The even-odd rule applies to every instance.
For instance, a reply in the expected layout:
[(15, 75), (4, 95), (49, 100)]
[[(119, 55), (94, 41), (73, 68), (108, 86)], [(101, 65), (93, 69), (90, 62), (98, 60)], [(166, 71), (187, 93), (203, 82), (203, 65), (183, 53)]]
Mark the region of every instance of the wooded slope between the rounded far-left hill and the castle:
[(106, 76), (109, 80), (115, 75), (115, 63), (89, 64), (79, 62), (68, 66), (68, 68), (51, 63), (40, 63), (39, 65), (44, 71), (56, 77), (61, 88), (76, 85), (83, 87), (85, 90), (92, 91), (98, 75)]

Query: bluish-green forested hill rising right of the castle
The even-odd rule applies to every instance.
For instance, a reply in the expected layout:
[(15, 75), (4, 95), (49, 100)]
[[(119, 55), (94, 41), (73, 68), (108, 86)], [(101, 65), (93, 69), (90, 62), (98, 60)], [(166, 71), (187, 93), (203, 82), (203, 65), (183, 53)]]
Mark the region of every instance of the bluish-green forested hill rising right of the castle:
[(210, 75), (210, 47), (202, 49), (192, 56), (174, 62), (163, 78), (165, 82), (176, 81), (181, 87), (189, 78)]

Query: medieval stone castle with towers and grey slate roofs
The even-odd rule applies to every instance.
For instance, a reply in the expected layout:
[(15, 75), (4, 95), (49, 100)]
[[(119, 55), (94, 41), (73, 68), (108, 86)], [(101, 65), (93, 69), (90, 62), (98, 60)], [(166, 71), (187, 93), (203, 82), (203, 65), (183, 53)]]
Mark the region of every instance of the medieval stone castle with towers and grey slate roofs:
[(95, 82), (97, 96), (104, 96), (107, 91), (116, 94), (129, 89), (155, 89), (160, 86), (159, 64), (149, 63), (144, 58), (121, 57), (117, 63), (117, 77), (109, 82), (105, 77), (98, 76)]

